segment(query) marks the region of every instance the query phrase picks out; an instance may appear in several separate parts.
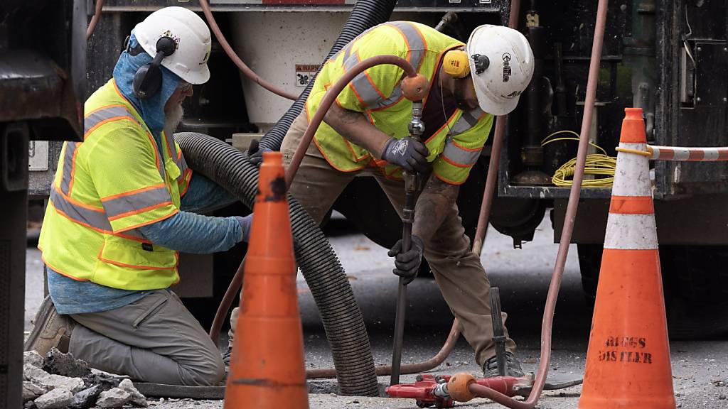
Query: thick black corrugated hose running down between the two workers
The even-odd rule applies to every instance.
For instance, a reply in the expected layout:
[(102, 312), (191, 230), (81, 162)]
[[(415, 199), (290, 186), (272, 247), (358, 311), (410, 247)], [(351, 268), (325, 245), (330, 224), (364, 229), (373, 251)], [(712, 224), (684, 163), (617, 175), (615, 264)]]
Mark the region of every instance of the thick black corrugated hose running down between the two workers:
[[(396, 0), (357, 1), (326, 60), (367, 28), (389, 20), (395, 4)], [(301, 113), (312, 86), (313, 82), (310, 82), (298, 100), (261, 139), (262, 147), (280, 149), (290, 124)], [(175, 134), (175, 140), (193, 170), (215, 180), (250, 209), (253, 208), (258, 188), (258, 168), (248, 162), (247, 154), (221, 140), (194, 132)], [(369, 338), (344, 269), (328, 239), (301, 204), (288, 196), (288, 205), (291, 229), (297, 243), (296, 260), (323, 321), (339, 381), (339, 392), (344, 395), (376, 396), (379, 391)]]

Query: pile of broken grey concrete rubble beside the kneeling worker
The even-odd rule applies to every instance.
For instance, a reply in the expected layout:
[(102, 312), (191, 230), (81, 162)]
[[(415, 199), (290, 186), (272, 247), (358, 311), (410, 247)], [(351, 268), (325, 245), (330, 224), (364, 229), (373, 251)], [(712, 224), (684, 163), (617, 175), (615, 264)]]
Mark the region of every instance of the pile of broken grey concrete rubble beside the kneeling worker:
[(23, 355), (23, 402), (38, 409), (148, 405), (129, 379), (91, 370), (87, 362), (55, 348), (46, 357), (35, 351)]

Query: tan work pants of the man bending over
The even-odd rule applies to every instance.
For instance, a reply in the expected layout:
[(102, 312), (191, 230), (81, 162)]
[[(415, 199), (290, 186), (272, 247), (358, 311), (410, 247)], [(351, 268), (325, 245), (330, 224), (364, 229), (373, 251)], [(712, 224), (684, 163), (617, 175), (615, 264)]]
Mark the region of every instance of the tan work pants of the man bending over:
[[(288, 166), (306, 126), (305, 114), (298, 115), (291, 124), (281, 146), (283, 163)], [(365, 168), (355, 172), (341, 172), (331, 167), (321, 152), (311, 143), (306, 156), (298, 167), (296, 178), (290, 186), (292, 194), (311, 217), (321, 223), (328, 210), (356, 177), (371, 176), (387, 194), (389, 202), (402, 216), (405, 201), (403, 180), (384, 178), (376, 169)], [(424, 258), (435, 274), (443, 298), (461, 324), (467, 341), (475, 349), (478, 365), (495, 355), (493, 322), (491, 319), (490, 289), (480, 258), (470, 249), (470, 239), (465, 236), (457, 205), (453, 204), (442, 225), (429, 242), (424, 243)], [(237, 311), (233, 317), (237, 318)], [(503, 320), (507, 314), (502, 314)], [(232, 327), (235, 323), (232, 322)], [(505, 330), (507, 335), (507, 330)], [(515, 352), (515, 342), (507, 338), (506, 349)]]

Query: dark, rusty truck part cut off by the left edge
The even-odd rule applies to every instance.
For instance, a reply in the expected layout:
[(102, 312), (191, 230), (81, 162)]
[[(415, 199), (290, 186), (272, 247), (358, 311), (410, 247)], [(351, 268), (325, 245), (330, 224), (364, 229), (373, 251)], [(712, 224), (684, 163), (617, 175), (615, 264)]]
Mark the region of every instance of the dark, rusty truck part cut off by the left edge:
[(79, 0), (0, 4), (1, 408), (23, 406), (28, 169), (47, 167), (42, 159), (58, 145), (50, 141), (83, 136), (86, 6)]

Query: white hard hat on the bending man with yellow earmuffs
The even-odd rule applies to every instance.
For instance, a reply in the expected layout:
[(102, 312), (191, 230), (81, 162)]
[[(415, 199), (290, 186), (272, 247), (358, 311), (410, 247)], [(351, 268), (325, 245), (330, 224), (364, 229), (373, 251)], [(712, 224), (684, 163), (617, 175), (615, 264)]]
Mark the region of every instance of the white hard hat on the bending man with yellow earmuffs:
[[(534, 53), (523, 34), (502, 25), (480, 25), (465, 46), (480, 109), (505, 115), (515, 109), (534, 74)], [(488, 58), (487, 68), (478, 61)]]

